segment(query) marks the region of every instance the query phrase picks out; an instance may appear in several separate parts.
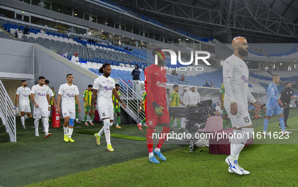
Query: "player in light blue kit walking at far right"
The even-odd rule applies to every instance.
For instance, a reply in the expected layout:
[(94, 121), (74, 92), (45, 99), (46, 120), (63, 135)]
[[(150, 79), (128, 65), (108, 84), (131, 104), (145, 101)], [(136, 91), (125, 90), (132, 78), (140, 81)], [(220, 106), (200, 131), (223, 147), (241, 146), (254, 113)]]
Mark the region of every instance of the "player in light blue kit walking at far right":
[(285, 135), (291, 134), (292, 132), (288, 132), (284, 130), (284, 121), (283, 121), (284, 115), (282, 113), (282, 110), (280, 109), (280, 107), (286, 107), (286, 104), (277, 98), (278, 92), (277, 92), (276, 84), (279, 83), (280, 81), (279, 75), (273, 75), (272, 79), (273, 79), (273, 82), (269, 84), (268, 91), (267, 91), (267, 103), (266, 103), (267, 111), (266, 111), (266, 118), (264, 120), (264, 131), (262, 134), (269, 136), (269, 134), (267, 133), (267, 128), (268, 128), (269, 120), (273, 114), (279, 116), (279, 123), (280, 123), (282, 134), (285, 134)]

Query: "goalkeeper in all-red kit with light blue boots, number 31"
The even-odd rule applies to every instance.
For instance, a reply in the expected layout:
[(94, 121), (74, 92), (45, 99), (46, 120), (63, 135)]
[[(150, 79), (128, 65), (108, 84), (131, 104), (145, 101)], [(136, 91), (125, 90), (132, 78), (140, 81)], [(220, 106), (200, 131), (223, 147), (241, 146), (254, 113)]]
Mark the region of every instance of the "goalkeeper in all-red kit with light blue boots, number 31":
[[(166, 158), (161, 154), (160, 148), (166, 139), (166, 135), (170, 131), (169, 113), (166, 107), (166, 70), (161, 66), (165, 57), (161, 50), (154, 49), (152, 55), (157, 61), (145, 69), (145, 87), (147, 93), (146, 107), (146, 124), (147, 124), (147, 147), (149, 151), (149, 161), (159, 163), (154, 155), (161, 160)], [(157, 58), (157, 59), (156, 59)], [(156, 148), (153, 150), (153, 133), (157, 123), (163, 126), (161, 138), (158, 140)]]

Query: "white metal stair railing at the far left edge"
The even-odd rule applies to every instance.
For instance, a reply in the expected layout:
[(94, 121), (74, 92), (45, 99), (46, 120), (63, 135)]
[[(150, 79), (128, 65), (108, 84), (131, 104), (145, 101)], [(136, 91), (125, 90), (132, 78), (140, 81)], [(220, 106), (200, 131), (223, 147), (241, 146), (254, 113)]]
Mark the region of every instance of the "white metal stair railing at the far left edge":
[(2, 121), (5, 123), (6, 131), (9, 133), (10, 136), (10, 141), (17, 142), (16, 116), (19, 114), (19, 109), (14, 106), (1, 80), (0, 112), (3, 115)]

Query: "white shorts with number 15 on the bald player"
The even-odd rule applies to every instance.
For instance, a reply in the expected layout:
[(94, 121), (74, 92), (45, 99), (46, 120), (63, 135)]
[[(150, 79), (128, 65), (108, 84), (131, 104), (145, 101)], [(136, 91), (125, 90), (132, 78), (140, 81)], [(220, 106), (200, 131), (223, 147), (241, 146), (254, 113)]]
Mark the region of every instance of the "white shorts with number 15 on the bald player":
[(232, 127), (236, 128), (243, 128), (249, 125), (252, 125), (252, 120), (250, 118), (250, 114), (248, 113), (248, 109), (245, 108), (238, 108), (237, 115), (232, 116), (230, 111), (230, 108), (225, 107), (225, 111), (228, 114), (228, 117), (230, 118), (232, 122)]

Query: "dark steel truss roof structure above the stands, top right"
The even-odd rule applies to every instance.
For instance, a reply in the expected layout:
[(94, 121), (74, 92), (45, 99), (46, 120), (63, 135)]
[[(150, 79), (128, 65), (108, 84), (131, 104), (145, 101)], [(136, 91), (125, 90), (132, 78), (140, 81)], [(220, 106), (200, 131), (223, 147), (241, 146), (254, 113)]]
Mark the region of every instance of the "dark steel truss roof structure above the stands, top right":
[(212, 31), (267, 37), (298, 37), (298, 0), (127, 0), (114, 1), (172, 23)]

